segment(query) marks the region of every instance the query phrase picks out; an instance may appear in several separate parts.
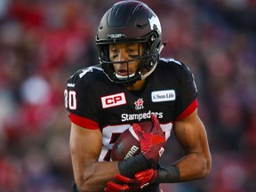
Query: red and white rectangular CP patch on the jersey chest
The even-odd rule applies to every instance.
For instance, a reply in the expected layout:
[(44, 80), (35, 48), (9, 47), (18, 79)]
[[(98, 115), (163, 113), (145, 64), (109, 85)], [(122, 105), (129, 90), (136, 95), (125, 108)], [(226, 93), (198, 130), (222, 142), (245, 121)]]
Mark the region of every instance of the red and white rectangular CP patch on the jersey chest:
[(126, 104), (124, 92), (101, 97), (102, 108), (113, 108)]

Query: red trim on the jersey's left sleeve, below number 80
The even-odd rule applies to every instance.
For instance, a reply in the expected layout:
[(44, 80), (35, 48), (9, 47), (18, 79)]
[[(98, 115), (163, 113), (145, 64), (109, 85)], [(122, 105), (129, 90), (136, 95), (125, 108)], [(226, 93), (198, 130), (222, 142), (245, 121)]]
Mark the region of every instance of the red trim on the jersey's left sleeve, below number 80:
[(76, 116), (75, 114), (69, 113), (69, 118), (72, 123), (82, 126), (85, 129), (96, 130), (100, 128), (98, 123), (83, 116)]

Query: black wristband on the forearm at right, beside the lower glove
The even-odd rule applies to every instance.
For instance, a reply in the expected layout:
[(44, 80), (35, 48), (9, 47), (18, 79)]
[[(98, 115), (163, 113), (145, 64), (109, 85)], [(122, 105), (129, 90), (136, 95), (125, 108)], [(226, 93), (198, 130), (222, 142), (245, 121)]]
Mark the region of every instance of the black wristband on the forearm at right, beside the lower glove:
[(156, 183), (172, 183), (180, 180), (180, 170), (175, 165), (159, 168), (157, 172)]

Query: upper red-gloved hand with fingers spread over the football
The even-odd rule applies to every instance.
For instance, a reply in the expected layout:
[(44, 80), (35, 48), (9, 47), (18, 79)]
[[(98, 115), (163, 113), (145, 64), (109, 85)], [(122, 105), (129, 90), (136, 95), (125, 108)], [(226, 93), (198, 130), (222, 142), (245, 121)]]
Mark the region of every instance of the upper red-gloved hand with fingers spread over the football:
[(156, 116), (151, 114), (151, 119), (153, 128), (149, 133), (143, 132), (139, 124), (132, 124), (132, 126), (139, 137), (142, 155), (154, 166), (164, 153), (166, 141)]

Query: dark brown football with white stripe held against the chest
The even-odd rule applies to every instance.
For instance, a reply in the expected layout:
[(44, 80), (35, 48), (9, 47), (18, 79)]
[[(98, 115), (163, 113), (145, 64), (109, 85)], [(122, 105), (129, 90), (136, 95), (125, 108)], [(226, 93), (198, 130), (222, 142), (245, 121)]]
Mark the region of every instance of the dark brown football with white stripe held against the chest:
[[(139, 123), (144, 132), (150, 132), (153, 124), (151, 121)], [(116, 140), (112, 152), (112, 161), (121, 161), (131, 156), (136, 156), (140, 153), (140, 141), (133, 127), (124, 131)]]

